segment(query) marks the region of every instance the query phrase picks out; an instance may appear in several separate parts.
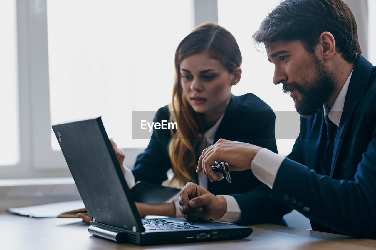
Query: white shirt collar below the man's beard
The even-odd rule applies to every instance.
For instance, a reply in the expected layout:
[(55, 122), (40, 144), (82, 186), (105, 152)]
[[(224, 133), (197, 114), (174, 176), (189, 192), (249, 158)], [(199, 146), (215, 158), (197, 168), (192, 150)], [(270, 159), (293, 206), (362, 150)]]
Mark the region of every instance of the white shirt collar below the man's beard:
[[(343, 85), (340, 94), (338, 94), (337, 99), (335, 99), (332, 108), (329, 108), (326, 104), (324, 104), (324, 117), (326, 119), (326, 115), (329, 113), (329, 119), (338, 126), (340, 126), (343, 106), (345, 104), (345, 98), (347, 94), (347, 89), (349, 88), (349, 83), (351, 79), (352, 72), (350, 73), (349, 77), (347, 78), (345, 84)], [(326, 122), (326, 120), (325, 120)]]

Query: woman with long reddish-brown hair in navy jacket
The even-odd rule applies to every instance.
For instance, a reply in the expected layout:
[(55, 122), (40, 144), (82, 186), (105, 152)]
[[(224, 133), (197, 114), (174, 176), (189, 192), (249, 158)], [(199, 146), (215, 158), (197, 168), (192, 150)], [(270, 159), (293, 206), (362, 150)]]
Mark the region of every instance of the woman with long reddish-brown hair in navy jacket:
[[(160, 108), (154, 118), (154, 122), (177, 123), (178, 128), (154, 129), (132, 172), (123, 169), (129, 186), (135, 181), (161, 185), (172, 169), (169, 186), (182, 188), (191, 181), (230, 203), (235, 199), (230, 194), (262, 185), (251, 170), (231, 172), (231, 183), (225, 179), (211, 183), (204, 174), (196, 173), (202, 150), (221, 138), (277, 151), (271, 108), (254, 94), (231, 94), (231, 87), (241, 78), (241, 62), (235, 38), (214, 23), (199, 25), (180, 42), (175, 54), (172, 102)], [(112, 143), (123, 166), (124, 153)], [(178, 201), (136, 205), (141, 216), (181, 216)]]

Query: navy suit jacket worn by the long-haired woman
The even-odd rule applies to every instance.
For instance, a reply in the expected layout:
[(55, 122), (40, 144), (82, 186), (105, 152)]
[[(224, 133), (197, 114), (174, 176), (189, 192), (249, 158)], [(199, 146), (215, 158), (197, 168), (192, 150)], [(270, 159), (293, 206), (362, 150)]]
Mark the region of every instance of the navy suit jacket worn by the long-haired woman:
[[(169, 120), (168, 107), (160, 108), (154, 122)], [(214, 143), (220, 139), (248, 142), (277, 152), (274, 136), (275, 114), (271, 108), (254, 94), (233, 96), (226, 108), (224, 117), (215, 134)], [(179, 124), (178, 124), (179, 125)], [(135, 181), (146, 181), (161, 184), (167, 180), (166, 172), (172, 168), (168, 155), (168, 143), (171, 138), (170, 130), (154, 130), (145, 153), (140, 154), (133, 169)], [(199, 149), (197, 148), (197, 152)], [(200, 152), (197, 154), (199, 159)], [(249, 169), (244, 172), (231, 172), (232, 182), (226, 180), (210, 182), (208, 190), (215, 195), (244, 193), (262, 184)], [(268, 198), (264, 193), (263, 198)], [(273, 201), (274, 202), (274, 201)], [(279, 222), (279, 219), (273, 221)]]

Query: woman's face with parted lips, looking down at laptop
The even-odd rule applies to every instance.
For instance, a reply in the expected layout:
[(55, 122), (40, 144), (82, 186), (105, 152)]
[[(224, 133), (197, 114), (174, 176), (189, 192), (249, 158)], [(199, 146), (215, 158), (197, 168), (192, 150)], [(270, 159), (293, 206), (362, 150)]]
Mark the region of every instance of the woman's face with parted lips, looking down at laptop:
[(238, 83), (241, 69), (233, 73), (216, 59), (201, 53), (191, 55), (180, 63), (183, 94), (194, 111), (225, 111), (231, 97), (231, 86)]

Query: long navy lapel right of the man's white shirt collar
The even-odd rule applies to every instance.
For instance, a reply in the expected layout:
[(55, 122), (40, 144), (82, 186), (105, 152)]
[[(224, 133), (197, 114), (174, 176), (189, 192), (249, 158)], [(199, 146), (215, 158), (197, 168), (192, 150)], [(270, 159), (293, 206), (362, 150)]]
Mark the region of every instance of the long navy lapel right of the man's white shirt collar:
[(371, 70), (372, 64), (365, 60), (364, 57), (360, 57), (356, 60), (343, 106), (340, 126), (338, 126), (337, 136), (334, 142), (331, 177), (333, 176), (334, 168), (338, 160), (338, 154), (340, 152), (341, 145), (343, 144), (344, 135), (349, 128), (351, 117), (354, 114), (360, 100), (364, 96), (364, 92), (371, 75)]

